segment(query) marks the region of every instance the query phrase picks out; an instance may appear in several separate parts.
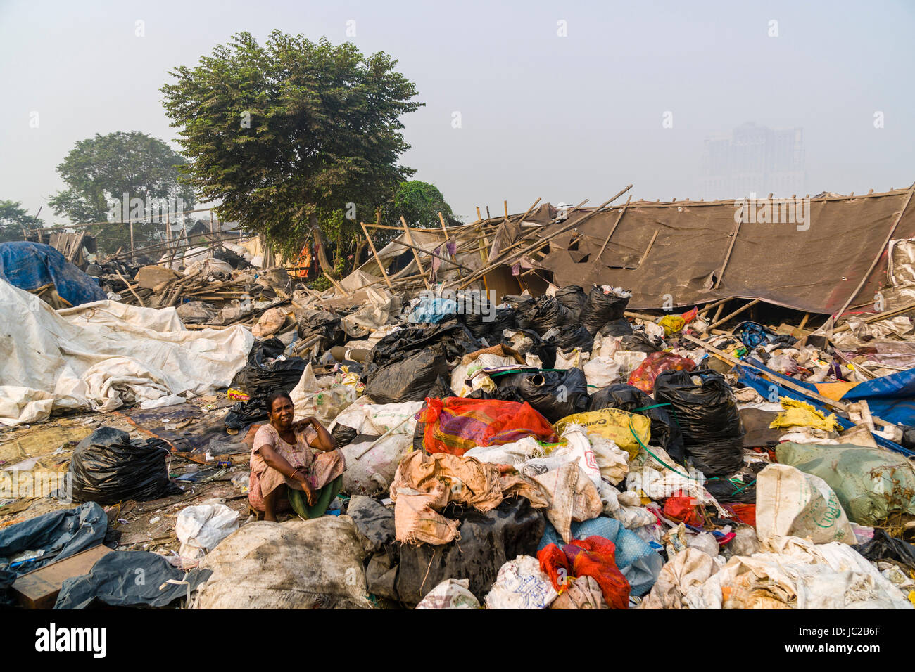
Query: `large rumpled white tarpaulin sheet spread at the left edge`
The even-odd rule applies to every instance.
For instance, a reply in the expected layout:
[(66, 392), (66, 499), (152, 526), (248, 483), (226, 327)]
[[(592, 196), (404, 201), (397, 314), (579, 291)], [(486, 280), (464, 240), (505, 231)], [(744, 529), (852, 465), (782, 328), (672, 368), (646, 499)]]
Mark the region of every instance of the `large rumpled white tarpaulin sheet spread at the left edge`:
[(174, 308), (97, 301), (55, 311), (0, 281), (0, 424), (207, 394), (229, 385), (253, 341), (241, 325), (188, 331)]

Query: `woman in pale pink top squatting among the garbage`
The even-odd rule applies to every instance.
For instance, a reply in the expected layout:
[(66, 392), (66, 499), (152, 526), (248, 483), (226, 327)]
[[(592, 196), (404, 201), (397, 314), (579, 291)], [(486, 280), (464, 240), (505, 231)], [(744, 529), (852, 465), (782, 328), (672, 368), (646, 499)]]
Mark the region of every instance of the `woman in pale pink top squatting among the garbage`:
[(251, 507), (264, 520), (275, 521), (287, 507), (303, 518), (323, 516), (343, 482), (343, 454), (314, 417), (293, 422), (296, 409), (286, 392), (272, 392), (267, 411), (270, 423), (254, 434), (251, 451)]

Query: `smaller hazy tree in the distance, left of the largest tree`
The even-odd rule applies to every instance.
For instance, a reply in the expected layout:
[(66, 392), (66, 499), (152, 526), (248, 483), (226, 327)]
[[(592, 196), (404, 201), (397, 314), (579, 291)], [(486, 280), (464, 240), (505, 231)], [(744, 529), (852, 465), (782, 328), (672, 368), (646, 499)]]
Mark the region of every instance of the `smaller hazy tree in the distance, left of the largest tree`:
[[(67, 188), (48, 203), (56, 214), (73, 222), (120, 221), (135, 219), (141, 213), (159, 214), (146, 211), (147, 200), (170, 200), (173, 211), (177, 211), (180, 198), (181, 207), (188, 210), (195, 200), (193, 190), (180, 181), (181, 166), (186, 163), (168, 144), (145, 133), (96, 133), (78, 142), (57, 167)], [(141, 201), (143, 207), (139, 208)], [(135, 246), (141, 247), (164, 232), (164, 225), (157, 220), (135, 223)], [(93, 227), (92, 233), (101, 251), (130, 247), (128, 225), (106, 224)]]

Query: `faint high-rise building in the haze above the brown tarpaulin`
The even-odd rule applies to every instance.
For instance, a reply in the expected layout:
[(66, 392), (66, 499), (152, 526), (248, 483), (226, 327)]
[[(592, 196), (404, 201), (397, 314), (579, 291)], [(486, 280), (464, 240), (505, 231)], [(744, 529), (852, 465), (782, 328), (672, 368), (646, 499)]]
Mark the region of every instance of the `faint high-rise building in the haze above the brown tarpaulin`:
[(771, 129), (744, 123), (705, 140), (702, 197), (776, 198), (806, 193), (803, 129)]

